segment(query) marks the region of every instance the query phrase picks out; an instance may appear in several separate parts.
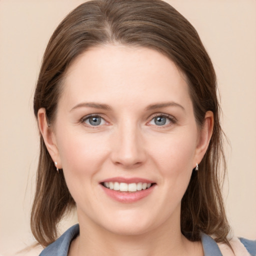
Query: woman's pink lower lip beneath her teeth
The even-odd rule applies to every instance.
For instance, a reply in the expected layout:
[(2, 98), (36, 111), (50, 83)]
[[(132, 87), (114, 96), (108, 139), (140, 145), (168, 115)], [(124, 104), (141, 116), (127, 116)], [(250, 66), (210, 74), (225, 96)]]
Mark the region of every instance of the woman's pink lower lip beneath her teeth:
[(139, 201), (140, 199), (149, 195), (153, 191), (155, 184), (150, 186), (147, 189), (144, 189), (144, 190), (142, 189), (136, 192), (116, 191), (113, 189), (106, 188), (103, 185), (101, 185), (101, 187), (104, 190), (104, 192), (112, 199), (118, 202), (131, 203), (131, 202)]

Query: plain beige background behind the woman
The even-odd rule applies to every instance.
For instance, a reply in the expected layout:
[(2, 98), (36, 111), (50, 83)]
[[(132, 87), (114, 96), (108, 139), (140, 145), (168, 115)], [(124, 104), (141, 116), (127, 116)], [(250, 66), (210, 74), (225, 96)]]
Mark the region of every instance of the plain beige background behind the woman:
[[(38, 156), (32, 94), (56, 25), (82, 0), (0, 0), (0, 254), (33, 240), (29, 211)], [(226, 147), (227, 216), (256, 239), (256, 1), (168, 0), (197, 29), (215, 66)], [(74, 223), (67, 218), (60, 230)], [(37, 255), (38, 253), (31, 253)], [(26, 254), (28, 255), (28, 254)]]

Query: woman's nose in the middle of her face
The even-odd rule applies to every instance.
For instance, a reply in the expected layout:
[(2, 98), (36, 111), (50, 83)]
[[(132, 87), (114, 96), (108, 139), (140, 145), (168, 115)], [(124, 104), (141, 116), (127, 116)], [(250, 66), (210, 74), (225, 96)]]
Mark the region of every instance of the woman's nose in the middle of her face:
[(146, 160), (145, 143), (141, 130), (127, 120), (113, 134), (111, 160), (123, 168), (140, 166)]

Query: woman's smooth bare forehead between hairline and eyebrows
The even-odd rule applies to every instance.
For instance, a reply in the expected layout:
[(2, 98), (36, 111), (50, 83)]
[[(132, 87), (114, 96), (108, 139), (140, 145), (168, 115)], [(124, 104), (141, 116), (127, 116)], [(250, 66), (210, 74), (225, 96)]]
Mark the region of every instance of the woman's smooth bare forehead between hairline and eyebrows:
[[(190, 99), (184, 75), (160, 52), (124, 45), (104, 45), (80, 54), (64, 79), (65, 101), (112, 101), (146, 104)], [(121, 102), (120, 102), (121, 103)]]

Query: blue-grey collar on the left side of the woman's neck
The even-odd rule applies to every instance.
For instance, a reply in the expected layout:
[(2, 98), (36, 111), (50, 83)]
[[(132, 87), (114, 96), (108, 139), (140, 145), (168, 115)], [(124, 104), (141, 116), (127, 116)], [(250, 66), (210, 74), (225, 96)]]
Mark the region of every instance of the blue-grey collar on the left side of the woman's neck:
[(67, 256), (71, 241), (79, 234), (79, 225), (68, 228), (58, 239), (45, 247), (39, 256)]

